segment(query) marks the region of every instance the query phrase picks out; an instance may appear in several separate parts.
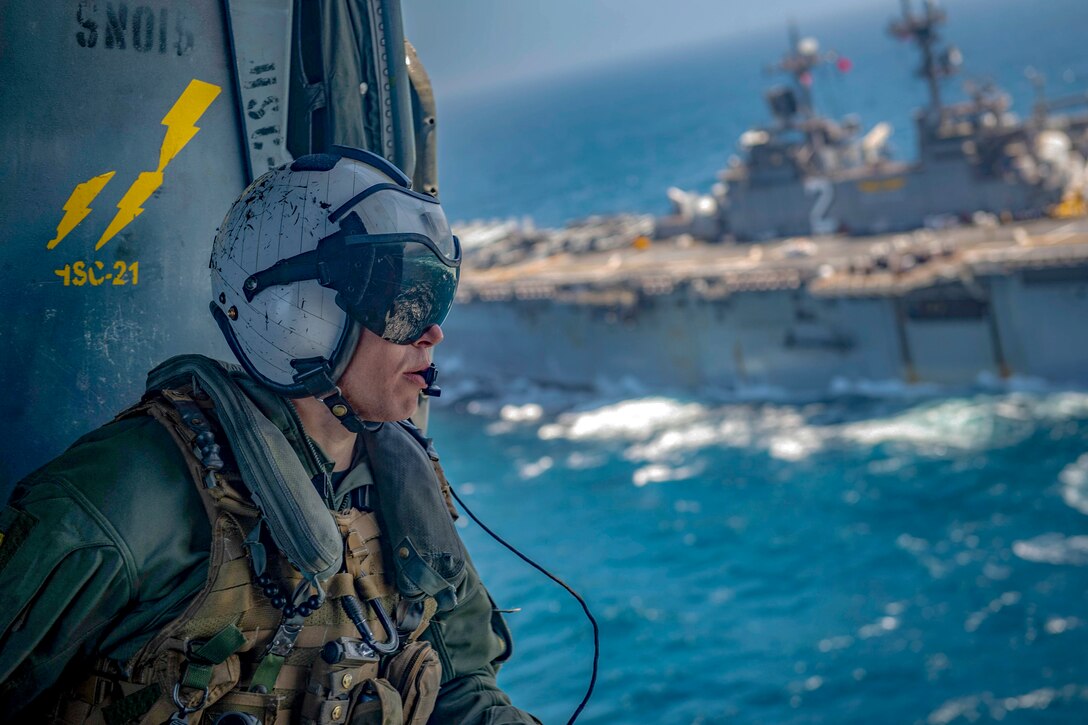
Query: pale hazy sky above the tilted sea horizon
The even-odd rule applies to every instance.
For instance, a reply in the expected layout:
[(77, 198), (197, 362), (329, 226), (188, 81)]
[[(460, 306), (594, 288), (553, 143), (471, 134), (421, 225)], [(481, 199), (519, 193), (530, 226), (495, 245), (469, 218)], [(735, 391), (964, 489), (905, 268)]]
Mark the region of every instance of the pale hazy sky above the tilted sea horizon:
[[(917, 0), (915, 4), (920, 4)], [(897, 0), (403, 0), (435, 88), (458, 95)]]

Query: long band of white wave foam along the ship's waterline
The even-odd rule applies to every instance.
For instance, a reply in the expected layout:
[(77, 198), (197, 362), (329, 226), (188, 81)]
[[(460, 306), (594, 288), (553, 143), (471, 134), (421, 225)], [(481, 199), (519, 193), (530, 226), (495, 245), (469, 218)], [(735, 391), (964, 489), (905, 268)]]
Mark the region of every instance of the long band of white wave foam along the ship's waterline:
[[(576, 404), (579, 407), (571, 409)], [(976, 394), (922, 402), (891, 414), (887, 403), (870, 406), (876, 415), (858, 420), (856, 403), (709, 404), (652, 396), (586, 405), (584, 393), (524, 383), (512, 385), (502, 400), (472, 401), (468, 410), (496, 418), (489, 429), (492, 434), (539, 426), (542, 440), (627, 443), (623, 455), (634, 462), (680, 464), (714, 447), (800, 462), (829, 447), (881, 445), (890, 446), (888, 455), (899, 460), (900, 453), (947, 457), (1015, 445), (1042, 426), (1088, 417), (1088, 394)], [(894, 472), (874, 466), (877, 475)], [(1063, 471), (1062, 483), (1066, 502), (1088, 513), (1088, 459)]]

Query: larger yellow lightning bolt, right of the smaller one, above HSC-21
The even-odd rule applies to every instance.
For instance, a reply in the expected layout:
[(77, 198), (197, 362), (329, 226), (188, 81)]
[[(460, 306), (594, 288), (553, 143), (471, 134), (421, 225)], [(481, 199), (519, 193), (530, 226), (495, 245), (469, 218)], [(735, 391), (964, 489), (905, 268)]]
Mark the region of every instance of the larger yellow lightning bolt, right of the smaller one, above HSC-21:
[(143, 172), (121, 197), (121, 200), (118, 201), (118, 213), (102, 232), (98, 243), (95, 244), (96, 250), (101, 249), (118, 232), (144, 212), (144, 204), (157, 188), (162, 186), (162, 172), (200, 131), (200, 127), (195, 124), (219, 96), (220, 90), (222, 89), (219, 86), (194, 78), (173, 108), (166, 112), (166, 115), (162, 116), (162, 125), (166, 126), (166, 135), (163, 136), (162, 147), (159, 149), (159, 168), (154, 171)]

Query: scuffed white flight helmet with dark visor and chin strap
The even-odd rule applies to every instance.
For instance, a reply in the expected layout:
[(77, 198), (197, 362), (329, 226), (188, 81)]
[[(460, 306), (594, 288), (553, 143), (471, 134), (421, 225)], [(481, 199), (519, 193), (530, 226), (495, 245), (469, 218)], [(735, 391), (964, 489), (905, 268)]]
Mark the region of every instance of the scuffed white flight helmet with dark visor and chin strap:
[(336, 381), (361, 328), (405, 344), (442, 322), (460, 244), (437, 200), (396, 167), (334, 146), (254, 181), (210, 267), (212, 315), (243, 368), (283, 395), (323, 400), (348, 425)]

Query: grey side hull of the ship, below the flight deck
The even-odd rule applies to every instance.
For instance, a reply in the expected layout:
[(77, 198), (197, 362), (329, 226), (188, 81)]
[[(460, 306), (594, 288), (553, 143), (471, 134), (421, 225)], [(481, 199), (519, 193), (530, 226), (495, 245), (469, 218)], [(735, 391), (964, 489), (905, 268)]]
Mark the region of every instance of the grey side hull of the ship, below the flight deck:
[[(728, 272), (689, 271), (666, 285), (605, 278), (596, 284), (611, 295), (592, 298), (521, 294), (469, 270), (440, 357), (483, 381), (605, 390), (820, 395), (1011, 376), (1088, 383), (1088, 238), (1049, 245), (1041, 233), (1038, 246), (998, 247), (964, 235), (972, 243), (940, 273), (920, 266), (826, 280), (817, 253), (731, 287), (715, 286)], [(716, 247), (705, 249), (709, 265)]]

